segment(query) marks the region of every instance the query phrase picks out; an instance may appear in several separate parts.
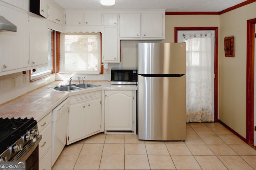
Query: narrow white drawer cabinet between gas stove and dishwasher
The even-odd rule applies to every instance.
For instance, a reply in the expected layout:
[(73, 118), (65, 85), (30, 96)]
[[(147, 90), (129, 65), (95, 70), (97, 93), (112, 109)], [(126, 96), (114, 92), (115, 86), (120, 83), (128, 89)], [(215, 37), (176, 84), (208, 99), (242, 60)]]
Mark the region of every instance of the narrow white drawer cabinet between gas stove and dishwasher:
[(38, 133), (42, 139), (38, 144), (39, 170), (50, 170), (52, 165), (52, 112), (38, 121)]

